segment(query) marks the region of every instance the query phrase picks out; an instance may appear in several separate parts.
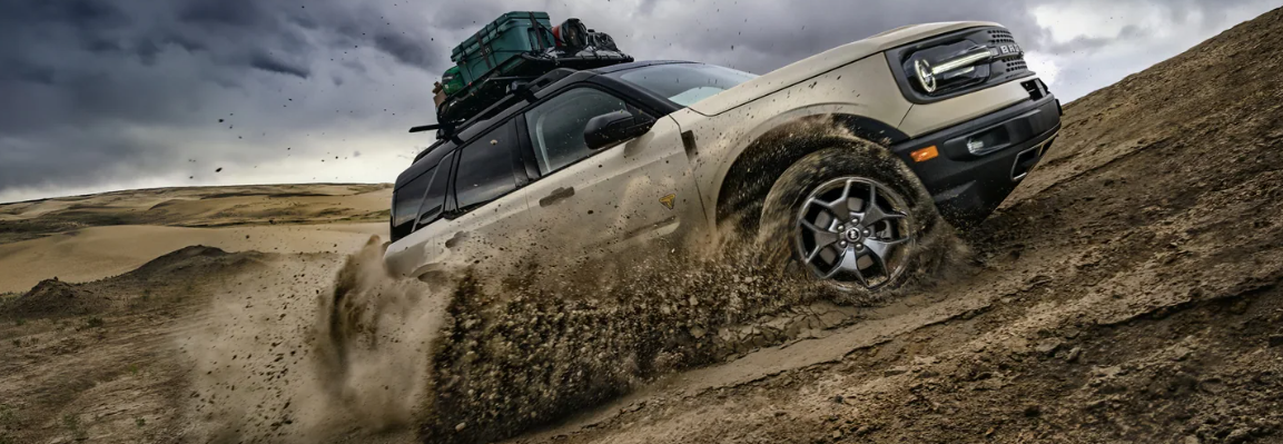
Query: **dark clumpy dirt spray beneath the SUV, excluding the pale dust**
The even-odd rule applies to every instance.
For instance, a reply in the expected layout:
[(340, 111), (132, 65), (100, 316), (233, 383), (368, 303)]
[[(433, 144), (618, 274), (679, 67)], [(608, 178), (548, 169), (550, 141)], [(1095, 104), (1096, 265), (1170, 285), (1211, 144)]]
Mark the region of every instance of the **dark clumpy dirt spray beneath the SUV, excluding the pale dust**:
[(458, 280), (432, 357), (423, 438), (503, 439), (652, 377), (853, 320), (840, 309), (826, 321), (797, 316), (834, 294), (760, 262), (656, 250), (626, 267), (580, 267), (597, 278), (588, 284), (541, 264), (520, 276)]

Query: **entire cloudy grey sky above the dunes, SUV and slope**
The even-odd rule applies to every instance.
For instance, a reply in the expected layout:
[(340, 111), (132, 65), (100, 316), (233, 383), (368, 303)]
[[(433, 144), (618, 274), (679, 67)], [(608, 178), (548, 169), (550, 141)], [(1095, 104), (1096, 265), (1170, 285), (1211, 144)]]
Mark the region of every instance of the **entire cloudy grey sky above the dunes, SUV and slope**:
[[(0, 0), (0, 201), (119, 189), (387, 182), (449, 53), (508, 10), (638, 59), (765, 73), (911, 23), (1006, 24), (1062, 99), (1283, 0)], [(221, 168), (221, 171), (219, 171)]]

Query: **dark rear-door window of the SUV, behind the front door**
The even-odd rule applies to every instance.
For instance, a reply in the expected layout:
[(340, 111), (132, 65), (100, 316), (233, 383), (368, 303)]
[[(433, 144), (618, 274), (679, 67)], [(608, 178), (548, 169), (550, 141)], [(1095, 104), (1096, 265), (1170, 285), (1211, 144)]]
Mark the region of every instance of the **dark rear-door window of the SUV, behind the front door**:
[(459, 209), (495, 200), (517, 189), (512, 151), (517, 144), (516, 122), (509, 121), (459, 150), (454, 196)]

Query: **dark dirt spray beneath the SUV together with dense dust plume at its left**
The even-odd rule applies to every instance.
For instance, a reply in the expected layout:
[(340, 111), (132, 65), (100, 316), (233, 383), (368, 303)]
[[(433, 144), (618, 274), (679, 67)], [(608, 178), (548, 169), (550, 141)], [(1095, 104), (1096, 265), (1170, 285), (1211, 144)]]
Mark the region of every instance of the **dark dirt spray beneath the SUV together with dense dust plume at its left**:
[(350, 255), (317, 305), (316, 386), (361, 427), (417, 423), (434, 443), (512, 436), (648, 379), (853, 320), (813, 282), (667, 245), (629, 263), (526, 262), (436, 284), (387, 276), (384, 249), (372, 240)]

